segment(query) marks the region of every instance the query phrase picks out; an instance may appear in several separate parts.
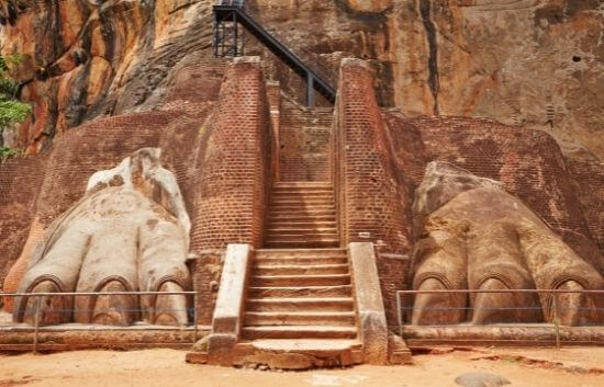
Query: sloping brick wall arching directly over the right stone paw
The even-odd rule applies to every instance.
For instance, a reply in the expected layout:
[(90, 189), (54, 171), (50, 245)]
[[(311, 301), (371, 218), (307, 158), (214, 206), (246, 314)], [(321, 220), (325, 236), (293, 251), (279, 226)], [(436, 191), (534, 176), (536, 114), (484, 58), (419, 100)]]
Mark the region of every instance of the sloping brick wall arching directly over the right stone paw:
[[(551, 136), (490, 119), (405, 121), (407, 127), (420, 129), (427, 160), (448, 161), (478, 177), (503, 182), (507, 192), (539, 215), (580, 257), (604, 270), (564, 158)], [(418, 184), (420, 175), (414, 178)]]

